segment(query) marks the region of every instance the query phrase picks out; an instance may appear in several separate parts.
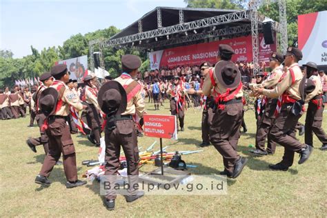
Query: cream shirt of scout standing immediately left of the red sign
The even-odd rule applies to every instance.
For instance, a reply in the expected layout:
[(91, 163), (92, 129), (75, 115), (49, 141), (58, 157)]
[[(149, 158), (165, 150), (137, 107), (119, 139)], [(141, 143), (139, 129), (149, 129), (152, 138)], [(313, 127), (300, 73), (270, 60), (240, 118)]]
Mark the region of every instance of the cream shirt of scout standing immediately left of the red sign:
[[(121, 83), (121, 86), (123, 86), (123, 88), (126, 88), (126, 86), (130, 85), (130, 83), (135, 80), (131, 77), (127, 79), (125, 77), (118, 77), (117, 79), (115, 79), (115, 81), (118, 81), (119, 83)], [(139, 88), (135, 90), (135, 95), (128, 97), (129, 101), (127, 102), (126, 110), (121, 115), (135, 115), (135, 113), (137, 113), (139, 117), (143, 117), (146, 105), (142, 98), (142, 89), (143, 88), (141, 84), (139, 84)]]

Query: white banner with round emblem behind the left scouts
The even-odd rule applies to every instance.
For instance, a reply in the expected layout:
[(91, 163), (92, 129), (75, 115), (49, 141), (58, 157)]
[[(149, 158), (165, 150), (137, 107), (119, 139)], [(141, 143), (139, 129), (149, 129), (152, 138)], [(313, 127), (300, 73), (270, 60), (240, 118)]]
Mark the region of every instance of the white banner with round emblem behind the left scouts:
[(88, 75), (88, 56), (87, 55), (58, 61), (57, 64), (58, 63), (66, 64), (70, 73), (72, 73), (72, 72), (75, 73), (78, 83), (83, 82), (83, 78), (86, 77), (86, 75)]

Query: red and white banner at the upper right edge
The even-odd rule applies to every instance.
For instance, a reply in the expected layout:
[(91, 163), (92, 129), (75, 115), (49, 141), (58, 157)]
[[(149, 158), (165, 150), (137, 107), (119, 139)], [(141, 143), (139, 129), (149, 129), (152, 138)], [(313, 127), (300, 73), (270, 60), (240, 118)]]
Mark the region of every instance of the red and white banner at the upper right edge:
[(313, 61), (327, 65), (327, 10), (297, 17), (298, 46), (303, 53), (300, 64)]

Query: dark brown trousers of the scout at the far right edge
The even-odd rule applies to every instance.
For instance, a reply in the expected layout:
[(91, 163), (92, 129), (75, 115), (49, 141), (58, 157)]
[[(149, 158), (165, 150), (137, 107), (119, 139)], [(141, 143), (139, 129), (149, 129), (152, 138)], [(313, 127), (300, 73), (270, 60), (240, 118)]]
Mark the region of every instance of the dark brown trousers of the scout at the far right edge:
[(327, 136), (324, 129), (321, 128), (322, 118), (324, 113), (324, 103), (318, 109), (317, 105), (311, 101), (308, 103), (308, 110), (306, 111), (306, 124), (304, 141), (307, 145), (313, 146), (313, 132), (321, 141), (321, 143), (327, 143)]

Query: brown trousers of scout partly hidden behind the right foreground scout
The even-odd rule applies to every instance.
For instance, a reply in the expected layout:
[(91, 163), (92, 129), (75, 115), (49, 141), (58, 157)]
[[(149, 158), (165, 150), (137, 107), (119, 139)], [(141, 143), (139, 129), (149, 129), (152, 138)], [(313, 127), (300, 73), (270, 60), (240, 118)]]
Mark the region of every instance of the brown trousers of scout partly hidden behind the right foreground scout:
[(255, 135), (255, 148), (265, 151), (266, 138), (268, 136), (268, 146), (266, 152), (274, 154), (276, 150), (276, 143), (269, 134), (273, 123), (275, 122), (275, 110), (277, 106), (277, 99), (267, 99), (264, 115), (261, 116), (257, 133)]

